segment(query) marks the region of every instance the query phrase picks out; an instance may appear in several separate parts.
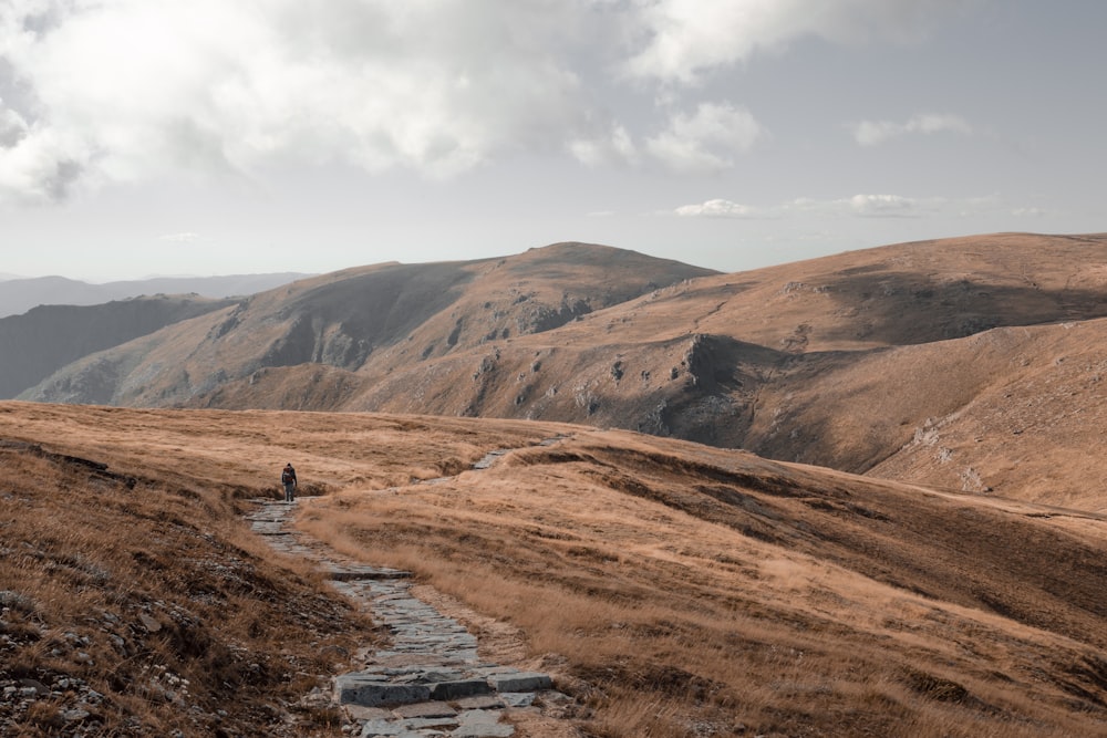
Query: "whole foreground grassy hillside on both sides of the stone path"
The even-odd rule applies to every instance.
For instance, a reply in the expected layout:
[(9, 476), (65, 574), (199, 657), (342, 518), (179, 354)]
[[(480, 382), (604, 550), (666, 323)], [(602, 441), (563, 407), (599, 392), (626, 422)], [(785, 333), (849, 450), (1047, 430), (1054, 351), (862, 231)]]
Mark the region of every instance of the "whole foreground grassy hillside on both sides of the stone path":
[(291, 460), (303, 530), (516, 633), (572, 735), (1107, 736), (1103, 516), (520, 420), (3, 403), (0, 439), (0, 683), (77, 685), (6, 730), (340, 735), (298, 694), (368, 624), (237, 517)]

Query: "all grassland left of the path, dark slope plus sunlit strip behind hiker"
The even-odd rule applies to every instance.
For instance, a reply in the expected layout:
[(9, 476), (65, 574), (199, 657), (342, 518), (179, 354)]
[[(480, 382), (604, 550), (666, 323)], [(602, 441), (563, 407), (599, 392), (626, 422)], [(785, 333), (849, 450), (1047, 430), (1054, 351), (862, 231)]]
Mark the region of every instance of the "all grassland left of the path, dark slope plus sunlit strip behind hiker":
[(304, 491), (406, 484), (526, 436), (344, 419), (0, 404), (0, 734), (339, 735), (302, 700), (380, 636), (248, 500), (286, 460)]

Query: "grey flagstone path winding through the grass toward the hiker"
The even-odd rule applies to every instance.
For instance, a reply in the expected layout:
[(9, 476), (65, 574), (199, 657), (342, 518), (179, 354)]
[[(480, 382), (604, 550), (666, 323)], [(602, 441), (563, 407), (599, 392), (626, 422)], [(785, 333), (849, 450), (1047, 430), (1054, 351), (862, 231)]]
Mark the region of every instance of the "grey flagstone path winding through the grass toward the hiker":
[[(486, 468), (494, 451), (475, 468)], [(303, 500), (304, 498), (301, 498)], [(310, 499), (310, 498), (307, 498)], [(410, 573), (343, 560), (289, 524), (296, 503), (258, 500), (252, 530), (276, 550), (314, 561), (333, 585), (392, 634), (387, 649), (366, 651), (362, 671), (334, 679), (333, 701), (362, 738), (497, 738), (515, 735), (505, 718), (536, 701), (558, 704), (549, 675), (483, 662), (461, 623), (416, 599)]]

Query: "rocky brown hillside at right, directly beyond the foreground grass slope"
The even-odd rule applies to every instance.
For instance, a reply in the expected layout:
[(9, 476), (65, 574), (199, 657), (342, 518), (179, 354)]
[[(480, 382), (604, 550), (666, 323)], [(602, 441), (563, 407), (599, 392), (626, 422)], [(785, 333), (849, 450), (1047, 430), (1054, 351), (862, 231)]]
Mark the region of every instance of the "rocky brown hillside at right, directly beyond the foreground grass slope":
[[(1101, 236), (906, 243), (704, 277), (433, 361), (259, 373), (193, 402), (587, 423), (1107, 510), (1107, 469), (1089, 460), (1107, 416), (1105, 280)], [(959, 424), (976, 429), (954, 437)]]

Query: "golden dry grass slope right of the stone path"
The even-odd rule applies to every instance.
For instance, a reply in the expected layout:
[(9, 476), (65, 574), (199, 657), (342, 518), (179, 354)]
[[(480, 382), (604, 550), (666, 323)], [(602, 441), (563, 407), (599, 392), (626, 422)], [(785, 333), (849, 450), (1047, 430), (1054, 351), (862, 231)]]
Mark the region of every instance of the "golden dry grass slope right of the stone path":
[[(852, 512), (834, 508), (842, 486)], [(301, 524), (518, 626), (529, 665), (558, 671), (594, 711), (594, 735), (1107, 735), (1105, 614), (1084, 610), (1107, 580), (1051, 558), (1048, 521), (972, 508), (995, 529), (979, 569), (918, 593), (970, 568), (934, 534), (966, 507), (606, 433), (448, 484), (339, 493)], [(894, 531), (876, 524), (889, 508)], [(1025, 539), (1027, 526), (1045, 538)], [(1069, 544), (1101, 557), (1104, 531)], [(897, 537), (901, 551), (883, 550)], [(982, 559), (1016, 540), (1085, 600)], [(1012, 602), (1045, 611), (1001, 616)]]

